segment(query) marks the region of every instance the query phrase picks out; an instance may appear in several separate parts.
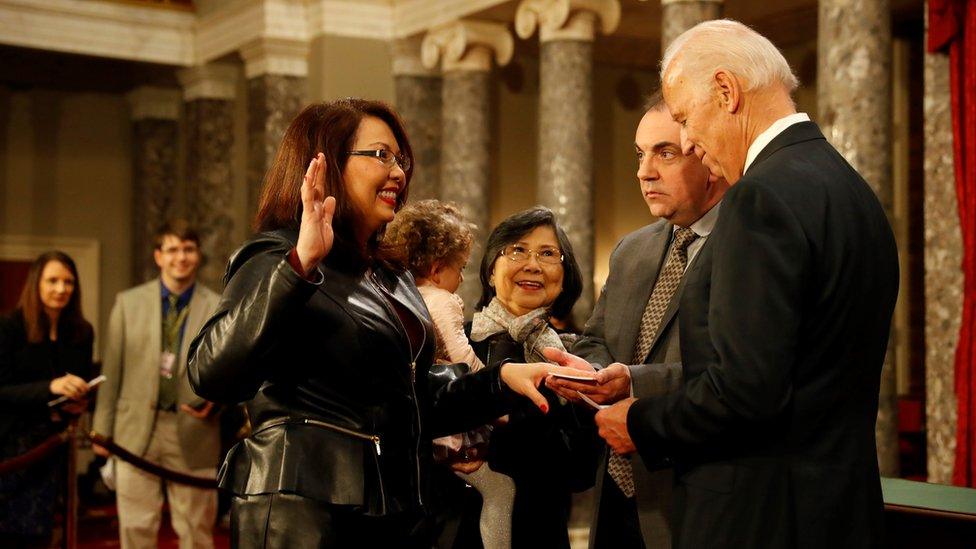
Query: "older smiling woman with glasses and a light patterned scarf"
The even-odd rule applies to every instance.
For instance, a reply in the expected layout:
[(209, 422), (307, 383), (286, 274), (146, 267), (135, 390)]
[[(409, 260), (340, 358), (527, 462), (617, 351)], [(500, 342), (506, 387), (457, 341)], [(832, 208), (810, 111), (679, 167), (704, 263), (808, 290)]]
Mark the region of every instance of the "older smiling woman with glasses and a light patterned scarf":
[[(481, 261), (481, 299), (471, 322), (471, 345), (490, 368), (506, 362), (544, 362), (542, 350), (565, 350), (574, 334), (560, 334), (551, 317), (567, 318), (583, 290), (573, 247), (548, 208), (509, 216), (488, 236)], [(593, 414), (544, 389), (541, 414), (520, 407), (496, 427), (488, 465), (515, 481), (512, 547), (568, 548), (571, 494), (593, 485), (599, 448)], [(452, 546), (477, 546), (472, 520), (480, 503), (465, 492)]]

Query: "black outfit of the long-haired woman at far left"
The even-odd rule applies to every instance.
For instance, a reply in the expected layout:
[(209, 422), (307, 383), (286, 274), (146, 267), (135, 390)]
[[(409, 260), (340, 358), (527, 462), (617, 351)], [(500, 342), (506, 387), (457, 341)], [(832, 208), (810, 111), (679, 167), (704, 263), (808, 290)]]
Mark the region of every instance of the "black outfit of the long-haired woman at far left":
[[(47, 406), (56, 398), (49, 386), (66, 373), (88, 379), (93, 341), (90, 327), (80, 335), (67, 332), (59, 327), (58, 341), (28, 343), (19, 311), (0, 318), (0, 461), (65, 428), (67, 418), (52, 415)], [(64, 459), (65, 453), (58, 451), (0, 476), (0, 534), (50, 535)]]

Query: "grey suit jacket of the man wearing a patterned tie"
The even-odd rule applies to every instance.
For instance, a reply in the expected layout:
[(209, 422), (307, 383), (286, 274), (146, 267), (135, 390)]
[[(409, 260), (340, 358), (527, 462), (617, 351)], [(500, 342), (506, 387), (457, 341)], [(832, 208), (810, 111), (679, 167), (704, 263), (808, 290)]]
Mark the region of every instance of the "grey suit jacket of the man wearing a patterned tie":
[[(635, 362), (633, 354), (641, 316), (658, 273), (664, 266), (672, 228), (672, 224), (658, 221), (628, 234), (617, 244), (610, 256), (610, 274), (606, 285), (582, 337), (572, 349), (574, 354), (599, 366), (614, 362), (630, 365), (634, 396), (638, 398), (665, 394), (678, 388), (681, 383), (681, 349), (678, 323), (675, 322), (680, 287), (661, 319), (661, 327), (646, 363), (632, 365)], [(596, 477), (591, 547), (596, 540), (596, 517), (606, 463), (606, 459), (601, 461)], [(636, 488), (634, 497), (644, 543), (649, 549), (670, 547), (671, 470), (649, 471), (636, 453), (631, 463)]]

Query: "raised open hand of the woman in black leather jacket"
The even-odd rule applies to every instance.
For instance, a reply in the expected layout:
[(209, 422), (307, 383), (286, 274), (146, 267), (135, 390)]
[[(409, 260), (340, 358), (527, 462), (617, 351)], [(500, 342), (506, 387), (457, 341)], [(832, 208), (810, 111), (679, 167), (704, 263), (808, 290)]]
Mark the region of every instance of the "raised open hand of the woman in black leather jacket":
[(325, 155), (318, 153), (309, 162), (302, 180), (302, 222), (295, 245), (306, 273), (311, 273), (332, 249), (333, 214), (335, 197), (325, 196)]

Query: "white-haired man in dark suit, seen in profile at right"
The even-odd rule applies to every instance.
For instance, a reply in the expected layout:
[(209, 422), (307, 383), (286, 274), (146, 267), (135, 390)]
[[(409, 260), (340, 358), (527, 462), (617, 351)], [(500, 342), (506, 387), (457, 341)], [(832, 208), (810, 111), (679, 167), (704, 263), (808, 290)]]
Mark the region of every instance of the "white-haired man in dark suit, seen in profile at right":
[(786, 60), (734, 21), (662, 62), (682, 142), (732, 188), (689, 271), (684, 385), (596, 416), (619, 453), (675, 470), (678, 547), (872, 547), (875, 449), (898, 290), (895, 242), (860, 175), (795, 112)]

